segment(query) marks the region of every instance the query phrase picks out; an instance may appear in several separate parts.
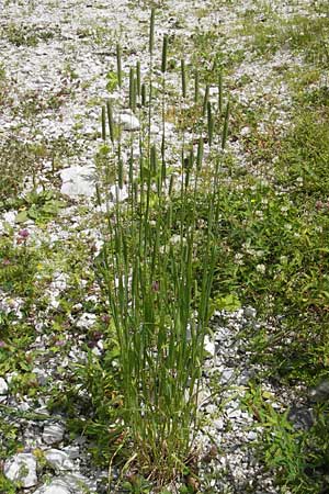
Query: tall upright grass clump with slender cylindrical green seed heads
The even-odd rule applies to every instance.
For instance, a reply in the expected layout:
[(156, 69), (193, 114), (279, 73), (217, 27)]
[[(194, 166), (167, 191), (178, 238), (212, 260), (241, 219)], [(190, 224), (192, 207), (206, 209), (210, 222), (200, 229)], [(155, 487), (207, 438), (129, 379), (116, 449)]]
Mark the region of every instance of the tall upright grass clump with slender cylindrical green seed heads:
[[(110, 198), (101, 188), (98, 190), (99, 204), (105, 203), (107, 211), (109, 237), (98, 259), (98, 270), (115, 328), (125, 442), (135, 450), (127, 464), (161, 484), (182, 473), (193, 458), (204, 337), (218, 255), (218, 170), (227, 137), (228, 105), (218, 135), (213, 122), (218, 108), (206, 104), (204, 116), (200, 104), (197, 128), (203, 128), (204, 135), (200, 135), (194, 146), (183, 138), (180, 157), (175, 155), (169, 165), (164, 132), (166, 35), (160, 64), (163, 91), (160, 145), (150, 134), (155, 112), (154, 36), (155, 11), (149, 37), (148, 99), (141, 94), (145, 82), (137, 83), (140, 76), (135, 78), (134, 70), (129, 74), (128, 105), (132, 111), (139, 108), (141, 121), (138, 139), (135, 138), (138, 158), (134, 157), (132, 134), (131, 151), (124, 165), (123, 135), (113, 117), (112, 103), (102, 110), (104, 142), (109, 128), (107, 168), (109, 173), (116, 170), (116, 181), (115, 205), (110, 205)], [(120, 47), (116, 53), (117, 80), (124, 85)], [(184, 63), (181, 63), (180, 78), (182, 98), (188, 100)], [(217, 149), (217, 158), (207, 160), (206, 171), (205, 136), (208, 147), (213, 143)], [(197, 203), (204, 177), (208, 201), (201, 216)], [(127, 201), (122, 203), (120, 197), (124, 189)]]

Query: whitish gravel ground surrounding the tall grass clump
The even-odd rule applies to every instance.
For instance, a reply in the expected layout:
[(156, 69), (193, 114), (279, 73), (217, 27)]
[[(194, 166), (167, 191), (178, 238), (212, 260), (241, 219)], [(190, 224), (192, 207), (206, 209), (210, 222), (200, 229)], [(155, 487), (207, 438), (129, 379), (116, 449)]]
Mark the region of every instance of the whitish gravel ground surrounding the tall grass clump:
[[(296, 13), (309, 14), (310, 4), (310, 0), (275, 0), (269, 2), (268, 8), (286, 21)], [(0, 112), (0, 144), (19, 139), (53, 146), (56, 139), (57, 143), (60, 139), (69, 149), (58, 151), (57, 171), (52, 178), (49, 169), (54, 165), (54, 155), (41, 156), (37, 177), (44, 187), (57, 187), (69, 195), (66, 206), (58, 217), (47, 223), (46, 228), (33, 221), (24, 224), (29, 231), (26, 245), (53, 249), (58, 256), (49, 256), (47, 276), (46, 269), (42, 271), (39, 283), (43, 283), (47, 303), (42, 307), (36, 303), (31, 312), (37, 336), (25, 348), (26, 356), (33, 355), (32, 372), (41, 391), (33, 397), (27, 393), (13, 393), (18, 377), (14, 370), (0, 378), (0, 405), (7, 405), (11, 411), (0, 408), (0, 414), (18, 429), (18, 441), (22, 445), (20, 453), (5, 460), (3, 471), (8, 478), (18, 479), (20, 467), (26, 467), (22, 476), (22, 492), (25, 494), (78, 494), (86, 492), (82, 484), (90, 492), (112, 492), (113, 487), (109, 487), (106, 480), (107, 471), (93, 465), (86, 439), (71, 439), (66, 417), (48, 416), (47, 403), (53, 389), (63, 388), (71, 375), (72, 362), (86, 361), (88, 332), (100, 317), (92, 307), (98, 305), (101, 294), (90, 273), (102, 236), (95, 223), (94, 187), (90, 179), (81, 179), (81, 172), (92, 173), (94, 169), (94, 155), (101, 142), (100, 104), (109, 97), (106, 75), (116, 66), (115, 42), (120, 40), (125, 53), (124, 68), (137, 59), (141, 66), (147, 65), (149, 5), (147, 1), (125, 0), (120, 4), (113, 0), (26, 0), (1, 1), (0, 11), (0, 67), (5, 70), (7, 81)], [(160, 45), (162, 34), (169, 33), (185, 44), (189, 59), (196, 30), (207, 32), (218, 27), (224, 40), (222, 49), (226, 54), (245, 49), (243, 59), (228, 76), (232, 97), (245, 108), (256, 111), (261, 108), (260, 132), (265, 134), (271, 125), (284, 135), (290, 125), (292, 101), (288, 88), (276, 76), (277, 68), (298, 67), (302, 59), (284, 47), (269, 58), (249, 53), (249, 37), (239, 33), (248, 11), (259, 12), (260, 23), (268, 15), (266, 8), (260, 7), (256, 0), (232, 3), (161, 1), (157, 13), (157, 43)], [(240, 85), (243, 78), (249, 82)], [(171, 82), (175, 83), (174, 78)], [(250, 128), (245, 127), (241, 135), (249, 132)], [(174, 135), (172, 132), (173, 141)], [(252, 164), (241, 136), (230, 139), (228, 149), (239, 166), (254, 167), (256, 175), (271, 177), (269, 164)], [(63, 170), (72, 169), (73, 182), (67, 182), (65, 188)], [(31, 189), (32, 180), (27, 179), (23, 195)], [(0, 232), (4, 234), (10, 225), (15, 239), (22, 236), (22, 226), (15, 223), (16, 214), (18, 211), (12, 210), (0, 217)], [(86, 259), (78, 283), (83, 306), (77, 303), (73, 313), (67, 314), (69, 329), (64, 337), (57, 338), (50, 330), (52, 319), (60, 297), (72, 284), (71, 272), (63, 259), (69, 256), (71, 246), (77, 243)], [(46, 261), (43, 262), (45, 266)], [(23, 299), (9, 296), (1, 290), (0, 308), (2, 314), (12, 317), (13, 324), (24, 317)], [(279, 493), (271, 472), (264, 470), (257, 457), (256, 417), (241, 406), (249, 380), (260, 379), (264, 369), (251, 363), (247, 341), (240, 334), (250, 326), (257, 332), (262, 323), (252, 307), (245, 307), (234, 313), (217, 313), (212, 324), (214, 336), (207, 341), (209, 357), (204, 366), (201, 403), (205, 425), (198, 444), (203, 456), (214, 445), (219, 453), (201, 465), (201, 492), (212, 487), (216, 493)], [(271, 327), (268, 329), (270, 332)], [(60, 351), (54, 351), (54, 347)], [(99, 339), (93, 347), (95, 358), (102, 357), (103, 348), (104, 341)], [(214, 391), (214, 381), (217, 381), (220, 393)], [(302, 390), (279, 390), (265, 380), (263, 388), (276, 409), (286, 409), (294, 404), (305, 411), (306, 405), (297, 398)], [(47, 417), (39, 419), (41, 414)], [(42, 470), (42, 462), (32, 454), (36, 449), (43, 451), (52, 465), (46, 473)], [(177, 492), (174, 486), (170, 489)]]

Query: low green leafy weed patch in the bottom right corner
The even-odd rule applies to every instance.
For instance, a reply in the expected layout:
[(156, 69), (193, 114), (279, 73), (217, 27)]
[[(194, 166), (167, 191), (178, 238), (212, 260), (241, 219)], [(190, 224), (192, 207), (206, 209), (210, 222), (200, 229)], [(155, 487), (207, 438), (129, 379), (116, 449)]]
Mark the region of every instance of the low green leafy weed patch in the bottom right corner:
[(273, 469), (281, 492), (327, 492), (328, 404), (318, 407), (315, 425), (308, 430), (296, 429), (288, 419), (290, 411), (277, 412), (261, 388), (250, 388), (245, 406), (259, 424), (263, 461)]

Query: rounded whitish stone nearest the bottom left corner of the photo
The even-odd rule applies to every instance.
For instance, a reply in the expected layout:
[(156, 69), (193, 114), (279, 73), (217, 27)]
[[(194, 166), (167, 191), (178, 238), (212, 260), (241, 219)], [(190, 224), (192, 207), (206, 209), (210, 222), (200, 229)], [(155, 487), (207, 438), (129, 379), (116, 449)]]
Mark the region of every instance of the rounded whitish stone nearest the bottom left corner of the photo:
[(37, 483), (36, 460), (31, 453), (18, 453), (4, 463), (3, 473), (7, 479), (20, 482), (25, 489)]

